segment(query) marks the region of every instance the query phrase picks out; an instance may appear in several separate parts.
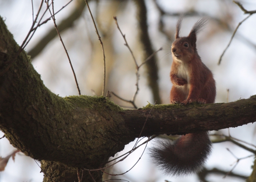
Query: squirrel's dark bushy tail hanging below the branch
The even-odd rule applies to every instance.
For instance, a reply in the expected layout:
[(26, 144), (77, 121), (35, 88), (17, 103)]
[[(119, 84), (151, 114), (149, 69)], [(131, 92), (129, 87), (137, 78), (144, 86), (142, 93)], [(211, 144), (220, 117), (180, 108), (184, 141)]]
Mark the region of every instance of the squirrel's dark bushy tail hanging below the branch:
[(212, 148), (208, 132), (182, 135), (174, 143), (167, 139), (155, 143), (149, 149), (149, 155), (160, 170), (173, 176), (186, 176), (200, 171)]

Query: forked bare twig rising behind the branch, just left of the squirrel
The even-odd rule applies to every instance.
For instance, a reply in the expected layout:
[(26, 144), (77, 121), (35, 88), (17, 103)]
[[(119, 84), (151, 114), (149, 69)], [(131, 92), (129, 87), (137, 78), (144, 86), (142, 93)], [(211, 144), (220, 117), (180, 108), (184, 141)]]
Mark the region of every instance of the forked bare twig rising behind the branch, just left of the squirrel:
[(116, 95), (114, 92), (112, 92), (112, 94), (115, 95), (117, 98), (119, 98), (119, 99), (122, 100), (122, 101), (131, 103), (131, 104), (133, 105), (133, 107), (134, 107), (135, 109), (137, 109), (137, 106), (135, 105), (135, 99), (136, 99), (136, 96), (137, 96), (138, 91), (139, 91), (139, 79), (140, 79), (139, 69), (140, 69), (140, 67), (141, 67), (143, 64), (147, 63), (153, 56), (155, 56), (155, 54), (156, 54), (158, 51), (162, 50), (162, 48), (160, 48), (160, 49), (158, 49), (157, 51), (155, 51), (155, 52), (154, 52), (152, 55), (150, 55), (143, 63), (141, 63), (140, 65), (138, 65), (138, 63), (137, 63), (137, 61), (136, 61), (136, 59), (135, 59), (135, 57), (134, 57), (134, 55), (133, 55), (132, 49), (130, 48), (130, 46), (129, 46), (128, 43), (127, 43), (127, 40), (126, 40), (126, 38), (125, 38), (125, 34), (122, 33), (122, 31), (121, 31), (121, 29), (120, 29), (120, 27), (119, 27), (119, 25), (118, 25), (118, 23), (117, 23), (117, 18), (116, 18), (116, 16), (114, 16), (113, 19), (115, 20), (115, 23), (116, 23), (116, 26), (117, 26), (119, 32), (122, 34), (122, 36), (123, 36), (123, 38), (124, 38), (124, 42), (125, 42), (124, 45), (125, 45), (125, 46), (129, 49), (129, 51), (131, 52), (132, 58), (133, 58), (133, 60), (134, 60), (135, 66), (136, 66), (136, 84), (135, 84), (135, 85), (136, 85), (136, 91), (135, 91), (135, 93), (134, 93), (134, 95), (133, 95), (133, 97), (132, 97), (132, 100), (123, 99), (123, 98), (121, 98), (120, 96)]

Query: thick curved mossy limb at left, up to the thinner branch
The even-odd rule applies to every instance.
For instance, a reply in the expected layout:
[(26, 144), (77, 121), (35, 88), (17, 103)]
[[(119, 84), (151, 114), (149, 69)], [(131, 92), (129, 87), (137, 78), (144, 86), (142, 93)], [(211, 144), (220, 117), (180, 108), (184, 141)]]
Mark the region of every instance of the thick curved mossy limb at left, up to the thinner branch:
[[(132, 139), (119, 114), (105, 97), (61, 98), (47, 89), (25, 51), (0, 19), (0, 128), (16, 148), (38, 160), (70, 167), (103, 167)], [(120, 137), (122, 136), (122, 137)]]

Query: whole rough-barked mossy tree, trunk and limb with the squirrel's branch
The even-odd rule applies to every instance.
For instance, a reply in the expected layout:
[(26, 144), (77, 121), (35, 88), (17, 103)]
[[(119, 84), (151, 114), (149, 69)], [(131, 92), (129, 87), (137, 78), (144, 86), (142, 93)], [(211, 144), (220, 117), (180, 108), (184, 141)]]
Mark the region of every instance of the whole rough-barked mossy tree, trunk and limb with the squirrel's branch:
[[(78, 181), (77, 169), (104, 167), (139, 136), (185, 134), (256, 120), (256, 95), (231, 103), (152, 105), (123, 110), (106, 97), (59, 97), (47, 89), (0, 18), (0, 129), (24, 154), (41, 161), (44, 181)], [(101, 172), (92, 172), (95, 181)], [(83, 181), (93, 181), (87, 171)]]

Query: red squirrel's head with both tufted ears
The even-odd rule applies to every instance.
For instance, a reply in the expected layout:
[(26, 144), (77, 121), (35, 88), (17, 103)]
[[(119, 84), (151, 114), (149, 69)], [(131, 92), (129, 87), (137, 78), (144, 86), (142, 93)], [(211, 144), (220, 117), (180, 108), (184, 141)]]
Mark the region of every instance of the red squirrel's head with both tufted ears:
[(206, 25), (207, 18), (202, 18), (196, 22), (187, 37), (180, 37), (180, 27), (182, 17), (179, 18), (176, 26), (175, 41), (172, 42), (173, 59), (187, 63), (197, 55), (196, 35), (202, 31)]

